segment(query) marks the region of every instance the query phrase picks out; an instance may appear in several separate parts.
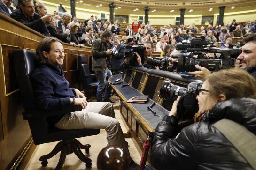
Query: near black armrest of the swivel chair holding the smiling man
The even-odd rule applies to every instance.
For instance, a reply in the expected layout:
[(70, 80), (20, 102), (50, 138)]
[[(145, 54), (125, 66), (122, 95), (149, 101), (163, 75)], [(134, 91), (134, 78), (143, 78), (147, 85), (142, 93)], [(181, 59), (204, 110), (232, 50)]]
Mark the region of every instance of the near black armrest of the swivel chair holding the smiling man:
[(28, 120), (30, 118), (36, 118), (36, 117), (49, 117), (49, 116), (62, 115), (62, 114), (71, 113), (71, 112), (74, 112), (74, 111), (81, 111), (82, 109), (83, 109), (82, 106), (69, 105), (69, 106), (63, 107), (61, 110), (24, 111), (22, 113), (22, 115), (23, 115), (24, 120)]

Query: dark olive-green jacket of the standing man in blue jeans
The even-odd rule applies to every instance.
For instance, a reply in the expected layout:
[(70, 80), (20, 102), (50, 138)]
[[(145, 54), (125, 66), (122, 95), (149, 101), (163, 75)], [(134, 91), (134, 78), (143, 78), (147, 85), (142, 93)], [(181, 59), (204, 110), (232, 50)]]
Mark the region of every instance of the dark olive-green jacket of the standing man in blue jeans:
[(107, 70), (107, 43), (100, 37), (92, 43), (92, 67), (93, 71)]

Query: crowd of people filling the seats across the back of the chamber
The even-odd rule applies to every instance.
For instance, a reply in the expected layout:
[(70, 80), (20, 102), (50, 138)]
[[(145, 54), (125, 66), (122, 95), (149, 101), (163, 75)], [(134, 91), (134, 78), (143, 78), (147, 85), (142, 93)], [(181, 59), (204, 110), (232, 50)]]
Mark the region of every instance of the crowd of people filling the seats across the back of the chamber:
[[(172, 51), (176, 43), (195, 35), (205, 35), (206, 40), (212, 43), (221, 42), (218, 46), (233, 48), (235, 44), (232, 44), (231, 38), (243, 38), (256, 32), (256, 20), (254, 23), (247, 20), (246, 23), (241, 24), (237, 23), (235, 19), (230, 23), (215, 26), (209, 24), (200, 28), (196, 27), (194, 23), (191, 25), (181, 24), (178, 27), (169, 24), (157, 28), (150, 25), (150, 22), (145, 24), (136, 20), (122, 30), (118, 20), (115, 22), (108, 19), (100, 20), (97, 16), (92, 15), (85, 21), (78, 21), (77, 17), (72, 18), (62, 3), (60, 3), (60, 7), (64, 13), (60, 16), (57, 11), (54, 11), (53, 15), (47, 14), (47, 8), (39, 0), (24, 2), (20, 0), (20, 2), (17, 9), (14, 10), (15, 7), (11, 6), (11, 0), (1, 0), (0, 12), (45, 36), (57, 37), (62, 42), (80, 46), (92, 46), (93, 41), (99, 38), (104, 30), (109, 30), (113, 36), (122, 35), (120, 43), (123, 45), (127, 44), (127, 39), (132, 36), (138, 37), (139, 43), (151, 41), (155, 44), (154, 52), (163, 52), (167, 44), (170, 44)], [(114, 44), (113, 38), (110, 43)]]

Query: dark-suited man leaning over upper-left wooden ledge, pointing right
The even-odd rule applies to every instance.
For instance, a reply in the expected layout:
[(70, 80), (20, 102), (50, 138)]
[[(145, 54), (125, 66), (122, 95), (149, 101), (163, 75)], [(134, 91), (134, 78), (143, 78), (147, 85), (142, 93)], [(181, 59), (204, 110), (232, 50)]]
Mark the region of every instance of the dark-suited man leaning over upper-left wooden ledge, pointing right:
[(45, 36), (50, 36), (45, 22), (49, 22), (52, 16), (55, 15), (41, 17), (35, 13), (35, 6), (32, 0), (20, 0), (19, 3), (19, 9), (13, 11), (10, 17)]

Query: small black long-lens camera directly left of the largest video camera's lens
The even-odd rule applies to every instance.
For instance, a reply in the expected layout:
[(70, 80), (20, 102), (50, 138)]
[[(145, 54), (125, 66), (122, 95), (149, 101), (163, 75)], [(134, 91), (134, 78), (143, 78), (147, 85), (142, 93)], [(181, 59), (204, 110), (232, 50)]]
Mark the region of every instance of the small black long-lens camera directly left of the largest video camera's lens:
[(160, 70), (168, 70), (169, 57), (147, 57), (147, 64), (151, 66), (159, 66)]

